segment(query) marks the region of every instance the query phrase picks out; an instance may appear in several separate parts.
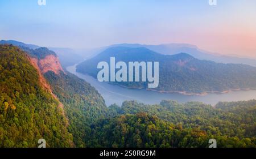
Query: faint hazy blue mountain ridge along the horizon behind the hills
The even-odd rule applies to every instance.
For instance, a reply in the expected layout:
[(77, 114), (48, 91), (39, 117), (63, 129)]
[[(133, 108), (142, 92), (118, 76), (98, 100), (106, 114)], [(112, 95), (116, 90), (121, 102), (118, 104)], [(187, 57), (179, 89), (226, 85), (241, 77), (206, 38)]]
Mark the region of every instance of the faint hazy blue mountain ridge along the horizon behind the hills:
[[(0, 44), (13, 44), (15, 46), (23, 46), (30, 49), (37, 49), (40, 46), (32, 44), (24, 44), (23, 42), (15, 40), (1, 40)], [(209, 61), (214, 61), (217, 63), (237, 63), (245, 64), (256, 67), (256, 59), (236, 57), (235, 55), (221, 55), (217, 53), (211, 53), (210, 51), (201, 50), (196, 45), (191, 44), (160, 44), (160, 45), (143, 45), (143, 44), (114, 44), (109, 46), (104, 46), (95, 49), (83, 49), (83, 50), (73, 50), (69, 48), (53, 48), (49, 47), (50, 50), (55, 51), (59, 56), (60, 63), (64, 67), (72, 66), (77, 63), (84, 61), (84, 59), (93, 58), (94, 56), (100, 54), (102, 51), (108, 48), (114, 48), (117, 46), (125, 46), (128, 48), (147, 48), (156, 53), (164, 55), (174, 55), (178, 53), (187, 53), (192, 55), (197, 59), (205, 59)]]

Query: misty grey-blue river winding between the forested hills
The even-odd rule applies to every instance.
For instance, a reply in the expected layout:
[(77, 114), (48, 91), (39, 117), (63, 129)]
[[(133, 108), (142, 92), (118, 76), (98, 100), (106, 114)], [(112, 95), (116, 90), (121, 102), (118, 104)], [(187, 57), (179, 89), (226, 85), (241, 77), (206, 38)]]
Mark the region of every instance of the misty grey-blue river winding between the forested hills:
[(123, 101), (136, 100), (144, 104), (159, 104), (162, 100), (176, 100), (184, 103), (189, 101), (200, 101), (205, 104), (216, 105), (219, 101), (244, 101), (256, 99), (256, 90), (236, 91), (225, 94), (208, 94), (206, 96), (188, 96), (179, 93), (159, 93), (147, 91), (146, 89), (127, 89), (119, 85), (106, 82), (99, 82), (97, 79), (89, 75), (76, 72), (76, 65), (66, 68), (68, 72), (84, 79), (90, 83), (104, 97), (107, 106), (111, 104), (122, 105)]

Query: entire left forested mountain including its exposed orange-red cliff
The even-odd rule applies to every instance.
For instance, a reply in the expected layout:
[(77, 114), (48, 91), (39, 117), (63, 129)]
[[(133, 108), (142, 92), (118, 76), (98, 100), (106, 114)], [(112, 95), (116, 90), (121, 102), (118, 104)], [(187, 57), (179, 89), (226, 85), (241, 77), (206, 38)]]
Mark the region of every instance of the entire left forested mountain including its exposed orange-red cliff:
[[(36, 147), (40, 137), (46, 139), (46, 141), (51, 140), (47, 147), (85, 147), (85, 136), (89, 134), (86, 132), (89, 132), (90, 124), (97, 119), (106, 117), (106, 111), (108, 111), (104, 99), (96, 89), (84, 80), (65, 73), (60, 66), (56, 54), (47, 48), (33, 50), (22, 46), (19, 46), (19, 48), (13, 45), (0, 46), (2, 80), (0, 103), (3, 105), (3, 111), (0, 112), (0, 119), (3, 122), (0, 125), (3, 128), (0, 129), (2, 135), (2, 138), (0, 138), (2, 145), (0, 144), (0, 147)], [(34, 70), (35, 74), (30, 74), (30, 69)], [(11, 74), (11, 72), (14, 72), (14, 74)], [(7, 73), (9, 76), (6, 76)], [(18, 81), (16, 81), (17, 78)], [(33, 82), (38, 85), (35, 85)], [(8, 87), (9, 85), (12, 87)], [(19, 88), (21, 86), (25, 88)], [(36, 96), (35, 92), (40, 93), (37, 89), (47, 95), (47, 97), (41, 97), (40, 94)], [(27, 96), (23, 96), (24, 92), (28, 92)], [(16, 96), (19, 96), (18, 103), (15, 102)], [(33, 99), (40, 102), (34, 102)], [(24, 104), (19, 106), (19, 102)], [(31, 104), (27, 105), (29, 102)], [(43, 109), (46, 108), (47, 110), (44, 111)], [(59, 109), (60, 114), (57, 112)], [(8, 113), (9, 111), (13, 114), (5, 115), (5, 112)], [(19, 114), (14, 114), (14, 111), (17, 111)], [(39, 112), (42, 115), (47, 115), (48, 113), (50, 115), (41, 117), (37, 114)], [(28, 116), (28, 119), (24, 118), (26, 116)], [(38, 130), (36, 126), (24, 124), (26, 122), (23, 120), (26, 119), (34, 121), (35, 123), (31, 123), (32, 125), (38, 123), (39, 126), (46, 120), (46, 125), (40, 127), (43, 130), (38, 132), (38, 135), (35, 137), (30, 136), (37, 133), (32, 128), (35, 131)], [(14, 123), (12, 120), (16, 122)], [(52, 123), (48, 125), (47, 122), (50, 121)], [(11, 128), (15, 130), (13, 127), (19, 128), (15, 132), (17, 135), (15, 137), (19, 137), (19, 139), (13, 139), (12, 131), (7, 134)], [(49, 131), (48, 127), (53, 128), (54, 131)], [(22, 129), (25, 129), (24, 132)], [(63, 129), (65, 132), (60, 133), (59, 131), (64, 131)], [(24, 138), (20, 137), (20, 134)], [(64, 137), (55, 141), (47, 137), (47, 135), (51, 137), (61, 137), (59, 135), (63, 135)], [(65, 137), (68, 138), (65, 139)], [(28, 138), (31, 140), (28, 140)], [(5, 144), (9, 140), (12, 143)], [(17, 140), (16, 143), (13, 140)], [(19, 144), (19, 142), (27, 144)]]

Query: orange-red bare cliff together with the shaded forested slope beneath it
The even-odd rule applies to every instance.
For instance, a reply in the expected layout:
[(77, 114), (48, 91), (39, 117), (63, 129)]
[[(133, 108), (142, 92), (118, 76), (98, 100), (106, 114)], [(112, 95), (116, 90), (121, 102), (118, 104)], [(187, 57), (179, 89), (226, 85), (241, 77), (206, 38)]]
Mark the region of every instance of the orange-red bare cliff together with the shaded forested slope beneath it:
[(36, 49), (20, 45), (18, 47), (26, 52), (24, 54), (32, 67), (38, 71), (38, 76), (35, 76), (34, 80), (38, 81), (41, 87), (57, 101), (57, 106), (61, 109), (65, 120), (64, 125), (72, 134), (74, 143), (72, 146), (86, 147), (86, 132), (90, 129), (90, 123), (106, 115), (104, 99), (84, 80), (66, 74), (54, 51), (40, 47)]

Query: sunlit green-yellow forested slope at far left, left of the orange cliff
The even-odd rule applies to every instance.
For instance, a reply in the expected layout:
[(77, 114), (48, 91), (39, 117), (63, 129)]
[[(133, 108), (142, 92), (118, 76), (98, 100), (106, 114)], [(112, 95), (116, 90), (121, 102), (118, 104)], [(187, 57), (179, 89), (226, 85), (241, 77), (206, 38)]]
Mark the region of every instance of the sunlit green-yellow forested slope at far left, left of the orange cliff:
[(73, 147), (60, 102), (24, 51), (0, 45), (0, 147)]

